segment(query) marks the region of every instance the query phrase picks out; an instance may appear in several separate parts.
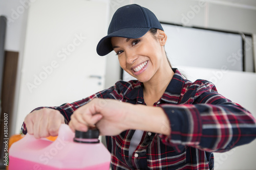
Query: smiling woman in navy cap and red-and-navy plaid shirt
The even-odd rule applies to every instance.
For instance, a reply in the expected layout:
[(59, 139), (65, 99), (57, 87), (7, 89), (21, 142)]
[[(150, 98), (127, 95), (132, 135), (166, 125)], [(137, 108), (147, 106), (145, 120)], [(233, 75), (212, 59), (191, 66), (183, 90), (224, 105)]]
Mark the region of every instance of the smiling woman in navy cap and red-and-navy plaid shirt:
[(97, 53), (114, 50), (138, 81), (119, 81), (72, 104), (37, 108), (25, 118), (24, 133), (40, 138), (57, 135), (62, 123), (80, 131), (96, 126), (106, 136), (112, 169), (213, 169), (212, 152), (256, 137), (255, 119), (211, 82), (184, 79), (167, 60), (166, 40), (150, 10), (119, 8)]

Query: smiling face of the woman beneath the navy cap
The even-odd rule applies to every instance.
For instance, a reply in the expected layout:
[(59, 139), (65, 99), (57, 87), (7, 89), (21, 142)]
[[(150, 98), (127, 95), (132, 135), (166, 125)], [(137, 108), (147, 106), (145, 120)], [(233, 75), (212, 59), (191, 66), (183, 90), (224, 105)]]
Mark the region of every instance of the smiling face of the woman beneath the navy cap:
[(137, 39), (111, 38), (120, 66), (140, 82), (150, 81), (162, 73), (162, 67), (166, 65), (166, 56), (163, 53), (165, 42), (166, 35), (161, 30), (158, 30), (156, 36), (147, 32)]

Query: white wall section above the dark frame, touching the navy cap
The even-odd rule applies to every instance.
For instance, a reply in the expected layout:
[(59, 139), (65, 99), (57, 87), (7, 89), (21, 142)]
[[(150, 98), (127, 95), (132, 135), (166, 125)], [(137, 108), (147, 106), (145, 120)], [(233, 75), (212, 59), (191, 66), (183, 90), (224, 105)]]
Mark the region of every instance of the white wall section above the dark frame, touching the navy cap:
[(205, 1), (135, 0), (134, 2), (150, 9), (160, 21), (186, 26), (204, 26)]

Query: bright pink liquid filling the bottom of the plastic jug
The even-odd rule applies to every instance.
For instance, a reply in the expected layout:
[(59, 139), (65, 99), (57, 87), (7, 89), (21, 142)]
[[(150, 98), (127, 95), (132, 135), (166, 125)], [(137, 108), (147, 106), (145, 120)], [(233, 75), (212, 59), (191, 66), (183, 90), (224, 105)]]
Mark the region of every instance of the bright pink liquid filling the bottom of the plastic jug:
[(45, 164), (39, 164), (32, 161), (15, 158), (12, 156), (9, 156), (9, 161), (12, 162), (9, 164), (9, 170), (103, 170), (110, 168), (110, 162), (105, 162), (84, 168), (57, 168)]

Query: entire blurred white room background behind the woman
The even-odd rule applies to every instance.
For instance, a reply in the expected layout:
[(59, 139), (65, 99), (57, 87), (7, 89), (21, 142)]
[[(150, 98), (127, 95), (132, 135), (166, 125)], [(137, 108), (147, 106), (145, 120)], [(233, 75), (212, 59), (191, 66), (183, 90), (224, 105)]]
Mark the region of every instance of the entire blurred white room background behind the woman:
[[(256, 117), (256, 1), (0, 0), (1, 144), (4, 118), (10, 137), (36, 107), (71, 103), (131, 79), (113, 52), (96, 53), (112, 15), (127, 4), (150, 9), (162, 22), (173, 67), (191, 81), (213, 82)], [(215, 168), (256, 169), (255, 157), (253, 141), (216, 153)]]

